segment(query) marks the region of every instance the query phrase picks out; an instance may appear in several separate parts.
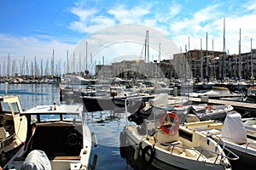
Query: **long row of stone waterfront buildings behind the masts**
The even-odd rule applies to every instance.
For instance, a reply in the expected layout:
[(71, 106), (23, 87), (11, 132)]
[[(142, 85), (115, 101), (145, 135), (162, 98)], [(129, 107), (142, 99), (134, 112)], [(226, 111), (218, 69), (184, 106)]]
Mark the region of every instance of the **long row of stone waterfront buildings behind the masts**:
[(228, 55), (219, 51), (190, 50), (174, 54), (173, 59), (145, 63), (143, 59), (124, 60), (112, 65), (96, 65), (96, 77), (121, 78), (225, 78), (251, 80), (256, 76), (256, 49), (250, 53)]

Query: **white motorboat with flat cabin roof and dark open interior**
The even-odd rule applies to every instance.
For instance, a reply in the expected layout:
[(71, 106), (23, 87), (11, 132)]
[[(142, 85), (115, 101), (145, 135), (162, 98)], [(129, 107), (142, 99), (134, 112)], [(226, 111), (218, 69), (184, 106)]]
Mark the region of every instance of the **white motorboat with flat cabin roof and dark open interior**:
[(38, 105), (22, 113), (28, 120), (26, 144), (3, 169), (88, 169), (95, 135), (82, 111), (82, 105)]

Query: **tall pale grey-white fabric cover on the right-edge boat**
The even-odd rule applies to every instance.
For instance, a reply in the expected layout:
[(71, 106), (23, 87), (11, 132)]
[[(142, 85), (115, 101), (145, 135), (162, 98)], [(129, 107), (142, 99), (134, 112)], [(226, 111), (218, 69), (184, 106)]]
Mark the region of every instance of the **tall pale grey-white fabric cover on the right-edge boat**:
[(247, 132), (239, 113), (228, 114), (221, 132), (222, 138), (236, 144), (247, 143)]

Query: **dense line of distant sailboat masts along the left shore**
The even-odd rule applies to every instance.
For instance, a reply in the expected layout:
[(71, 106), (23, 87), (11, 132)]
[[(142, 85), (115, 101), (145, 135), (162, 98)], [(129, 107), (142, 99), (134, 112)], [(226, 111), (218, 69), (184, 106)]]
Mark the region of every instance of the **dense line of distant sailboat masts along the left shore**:
[[(87, 57), (82, 59), (79, 55), (79, 59), (73, 54), (73, 59), (69, 59), (68, 50), (67, 50), (67, 59), (60, 59), (55, 61), (55, 50), (53, 49), (52, 57), (46, 59), (46, 62), (43, 59), (37, 60), (35, 56), (33, 61), (26, 60), (24, 56), (22, 60), (19, 59), (17, 62), (16, 59), (11, 59), (11, 54), (8, 55), (8, 60), (0, 63), (0, 77), (15, 77), (16, 75), (28, 75), (28, 76), (61, 76), (66, 73), (78, 73), (87, 71)], [(90, 69), (93, 71), (96, 62), (93, 64), (90, 57)]]

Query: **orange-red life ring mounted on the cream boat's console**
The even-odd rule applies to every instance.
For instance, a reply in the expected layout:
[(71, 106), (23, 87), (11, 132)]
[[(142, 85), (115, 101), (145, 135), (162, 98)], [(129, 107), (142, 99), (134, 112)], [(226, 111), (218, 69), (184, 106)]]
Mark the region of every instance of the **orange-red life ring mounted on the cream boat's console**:
[(177, 133), (178, 127), (179, 120), (175, 113), (168, 112), (160, 119), (160, 129), (167, 134)]

